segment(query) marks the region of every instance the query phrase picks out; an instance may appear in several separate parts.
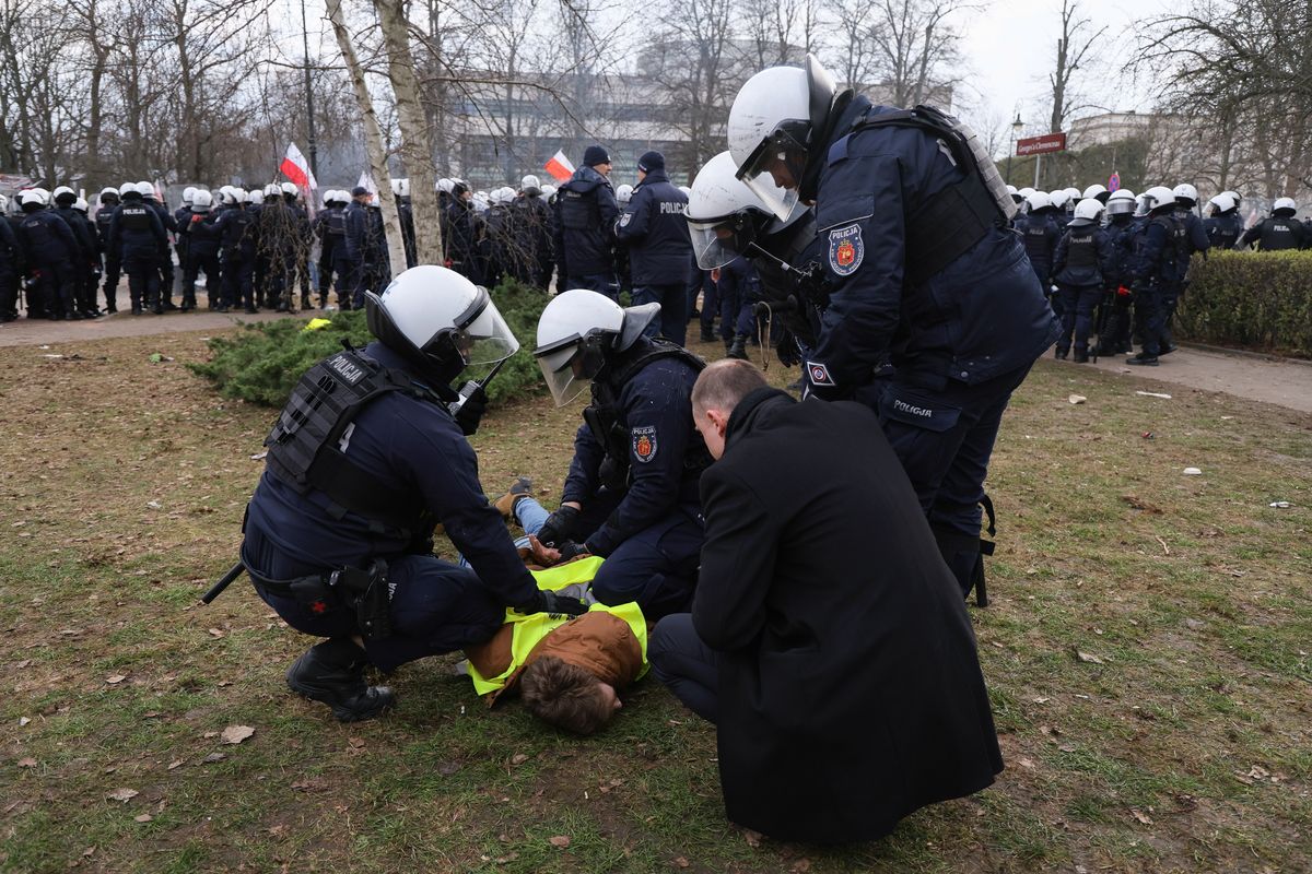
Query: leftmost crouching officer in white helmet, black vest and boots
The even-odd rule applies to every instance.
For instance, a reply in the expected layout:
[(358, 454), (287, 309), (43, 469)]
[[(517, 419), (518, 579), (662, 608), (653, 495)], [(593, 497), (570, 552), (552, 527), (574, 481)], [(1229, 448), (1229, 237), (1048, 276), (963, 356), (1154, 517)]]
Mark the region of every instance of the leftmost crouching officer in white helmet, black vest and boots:
[[(365, 300), (378, 342), (300, 379), (265, 440), (241, 546), (260, 598), (328, 638), (297, 659), (287, 685), (344, 722), (394, 702), (366, 683), (366, 664), (391, 671), (485, 641), (506, 607), (585, 609), (538, 590), (484, 497), (464, 439), (485, 408), (482, 388), (451, 411), (450, 383), (466, 366), (520, 347), (487, 290), (420, 266)], [(437, 523), (472, 570), (432, 554)]]

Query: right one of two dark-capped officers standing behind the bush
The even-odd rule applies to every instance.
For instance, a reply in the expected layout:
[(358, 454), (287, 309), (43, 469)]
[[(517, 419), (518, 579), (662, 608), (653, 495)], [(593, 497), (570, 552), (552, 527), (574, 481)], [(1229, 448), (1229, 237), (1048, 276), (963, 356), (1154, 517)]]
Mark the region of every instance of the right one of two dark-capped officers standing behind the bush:
[(638, 159), (638, 185), (615, 223), (615, 240), (628, 250), (635, 304), (660, 304), (660, 316), (647, 335), (660, 334), (678, 346), (687, 337), (687, 266), (693, 242), (687, 236), (687, 195), (665, 173), (665, 156), (647, 152)]

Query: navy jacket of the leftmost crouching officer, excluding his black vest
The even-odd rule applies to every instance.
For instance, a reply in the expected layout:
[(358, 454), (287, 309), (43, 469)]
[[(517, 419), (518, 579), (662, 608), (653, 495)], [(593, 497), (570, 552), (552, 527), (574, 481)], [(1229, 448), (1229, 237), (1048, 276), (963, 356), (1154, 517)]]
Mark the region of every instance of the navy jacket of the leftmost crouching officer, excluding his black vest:
[[(405, 360), (382, 343), (363, 354), (380, 366), (407, 370)], [(367, 567), (370, 560), (411, 554), (416, 541), (442, 523), (446, 536), (479, 579), (502, 604), (529, 604), (537, 584), (523, 566), (501, 514), (479, 484), (479, 460), (455, 419), (438, 404), (404, 392), (388, 392), (356, 418), (346, 446), (349, 460), (387, 493), (422, 507), (409, 525), (416, 537), (379, 533), (363, 516), (329, 512), (331, 501), (311, 489), (300, 494), (268, 469), (251, 498), (247, 529), (258, 529), (278, 552), (307, 567)]]

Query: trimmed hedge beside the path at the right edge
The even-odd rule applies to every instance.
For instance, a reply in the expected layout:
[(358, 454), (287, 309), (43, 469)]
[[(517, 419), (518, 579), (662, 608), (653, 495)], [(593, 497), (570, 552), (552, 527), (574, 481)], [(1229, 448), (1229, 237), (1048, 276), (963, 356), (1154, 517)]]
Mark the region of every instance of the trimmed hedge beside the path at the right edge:
[(1312, 358), (1312, 252), (1194, 257), (1176, 333), (1219, 346)]

